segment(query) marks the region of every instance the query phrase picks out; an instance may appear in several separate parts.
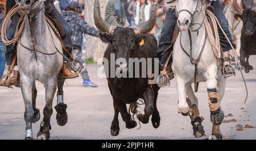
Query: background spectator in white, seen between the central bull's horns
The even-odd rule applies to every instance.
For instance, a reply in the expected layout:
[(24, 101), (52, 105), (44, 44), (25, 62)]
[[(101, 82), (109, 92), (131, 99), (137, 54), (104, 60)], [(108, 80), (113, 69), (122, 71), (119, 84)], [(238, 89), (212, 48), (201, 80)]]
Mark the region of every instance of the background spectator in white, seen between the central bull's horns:
[(140, 0), (136, 7), (135, 24), (141, 24), (146, 22), (150, 18), (151, 3), (147, 0)]

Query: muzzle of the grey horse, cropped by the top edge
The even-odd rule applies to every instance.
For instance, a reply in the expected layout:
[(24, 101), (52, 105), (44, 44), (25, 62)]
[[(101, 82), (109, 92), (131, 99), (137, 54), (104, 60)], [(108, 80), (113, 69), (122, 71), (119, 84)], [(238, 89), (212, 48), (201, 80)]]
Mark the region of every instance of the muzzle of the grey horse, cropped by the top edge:
[(21, 14), (37, 14), (44, 7), (46, 0), (15, 0), (20, 7)]

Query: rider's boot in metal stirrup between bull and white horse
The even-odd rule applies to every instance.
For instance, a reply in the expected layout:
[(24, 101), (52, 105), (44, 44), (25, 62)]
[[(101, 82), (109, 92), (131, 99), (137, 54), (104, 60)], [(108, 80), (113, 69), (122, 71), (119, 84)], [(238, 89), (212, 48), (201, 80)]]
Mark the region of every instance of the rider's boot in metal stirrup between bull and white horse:
[(174, 79), (174, 73), (172, 72), (172, 65), (168, 64), (165, 72), (164, 72), (164, 65), (161, 65), (160, 70), (161, 72), (158, 78), (158, 86), (164, 87), (169, 85), (171, 79)]

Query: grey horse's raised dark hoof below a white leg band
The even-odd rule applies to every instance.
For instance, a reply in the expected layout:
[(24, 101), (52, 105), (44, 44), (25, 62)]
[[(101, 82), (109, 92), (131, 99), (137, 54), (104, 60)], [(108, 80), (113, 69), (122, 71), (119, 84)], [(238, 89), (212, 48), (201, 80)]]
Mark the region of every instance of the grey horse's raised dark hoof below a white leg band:
[(60, 126), (64, 126), (65, 124), (67, 124), (68, 122), (68, 114), (66, 112), (67, 104), (59, 103), (54, 108), (57, 112), (57, 115), (56, 115), (57, 124)]

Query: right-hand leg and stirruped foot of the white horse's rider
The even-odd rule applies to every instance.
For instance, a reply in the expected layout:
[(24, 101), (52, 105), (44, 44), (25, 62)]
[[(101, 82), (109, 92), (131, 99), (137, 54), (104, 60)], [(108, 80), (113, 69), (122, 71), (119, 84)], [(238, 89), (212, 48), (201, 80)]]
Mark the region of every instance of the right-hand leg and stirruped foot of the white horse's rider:
[[(216, 15), (216, 18), (218, 19), (218, 22), (220, 22), (220, 25), (221, 25), (223, 31), (228, 36), (234, 49), (236, 49), (236, 44), (234, 44), (232, 41), (232, 36), (229, 31), (228, 20), (225, 17), (221, 3), (219, 1), (214, 1), (214, 2), (212, 2), (212, 6), (214, 8), (214, 13)], [(235, 73), (235, 69), (232, 66), (230, 66), (230, 60), (229, 60), (229, 50), (232, 50), (232, 47), (230, 46), (229, 41), (226, 39), (226, 37), (224, 36), (224, 33), (222, 33), (222, 31), (220, 29), (218, 29), (218, 34), (220, 36), (221, 48), (223, 51), (223, 56), (224, 56), (224, 61), (225, 61), (224, 65), (225, 65), (226, 70), (224, 70), (224, 74), (232, 75)]]

